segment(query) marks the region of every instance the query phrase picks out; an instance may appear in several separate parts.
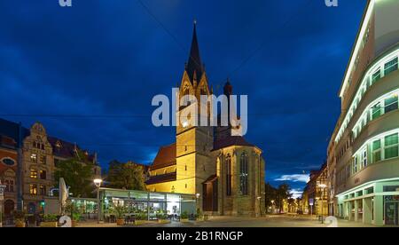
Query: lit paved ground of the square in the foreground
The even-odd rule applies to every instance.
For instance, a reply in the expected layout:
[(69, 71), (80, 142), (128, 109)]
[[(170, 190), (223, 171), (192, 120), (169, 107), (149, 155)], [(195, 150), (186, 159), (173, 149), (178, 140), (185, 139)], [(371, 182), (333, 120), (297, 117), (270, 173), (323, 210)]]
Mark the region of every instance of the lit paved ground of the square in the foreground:
[[(116, 226), (114, 224), (81, 224), (80, 226)], [(316, 217), (294, 216), (294, 215), (276, 215), (267, 217), (212, 217), (206, 222), (173, 222), (166, 225), (149, 223), (141, 225), (142, 227), (327, 227), (326, 224), (320, 224)], [(348, 222), (347, 220), (338, 220), (339, 227), (373, 227), (362, 223)]]

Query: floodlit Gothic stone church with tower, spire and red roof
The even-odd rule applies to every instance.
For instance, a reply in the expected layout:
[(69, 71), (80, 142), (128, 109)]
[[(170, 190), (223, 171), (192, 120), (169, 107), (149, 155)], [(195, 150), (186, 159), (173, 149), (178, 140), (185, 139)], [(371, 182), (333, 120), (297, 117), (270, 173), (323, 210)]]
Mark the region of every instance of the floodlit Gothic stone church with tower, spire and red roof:
[[(225, 83), (223, 93), (228, 97), (232, 94), (229, 81)], [(201, 95), (212, 94), (200, 59), (194, 24), (179, 98), (192, 95), (200, 101)], [(178, 113), (186, 109), (180, 107)], [(147, 189), (193, 194), (197, 197), (197, 208), (209, 215), (259, 217), (264, 214), (262, 150), (242, 136), (233, 136), (232, 130), (231, 124), (217, 127), (177, 125), (176, 142), (161, 146), (153, 160)]]

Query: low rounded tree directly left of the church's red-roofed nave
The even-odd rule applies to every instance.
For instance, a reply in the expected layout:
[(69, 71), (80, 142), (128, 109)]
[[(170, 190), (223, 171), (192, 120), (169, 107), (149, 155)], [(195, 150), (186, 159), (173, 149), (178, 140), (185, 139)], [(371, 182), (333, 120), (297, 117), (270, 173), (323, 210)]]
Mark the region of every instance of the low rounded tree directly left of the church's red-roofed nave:
[(121, 163), (113, 160), (109, 163), (107, 181), (112, 188), (145, 191), (143, 175), (142, 166), (133, 162)]

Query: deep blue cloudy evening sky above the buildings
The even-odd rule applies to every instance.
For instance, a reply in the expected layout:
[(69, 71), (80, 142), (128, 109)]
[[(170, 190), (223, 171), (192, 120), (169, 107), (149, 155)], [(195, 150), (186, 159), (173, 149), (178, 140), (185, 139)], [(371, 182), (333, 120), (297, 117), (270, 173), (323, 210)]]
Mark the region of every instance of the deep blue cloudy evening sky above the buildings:
[(248, 95), (246, 138), (264, 150), (267, 180), (302, 179), (325, 161), (365, 0), (58, 2), (0, 2), (0, 117), (40, 121), (102, 166), (152, 162), (175, 129), (153, 127), (151, 100), (180, 83), (197, 19), (215, 92), (230, 76)]

